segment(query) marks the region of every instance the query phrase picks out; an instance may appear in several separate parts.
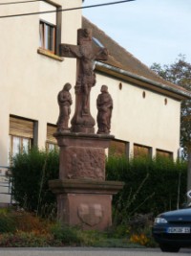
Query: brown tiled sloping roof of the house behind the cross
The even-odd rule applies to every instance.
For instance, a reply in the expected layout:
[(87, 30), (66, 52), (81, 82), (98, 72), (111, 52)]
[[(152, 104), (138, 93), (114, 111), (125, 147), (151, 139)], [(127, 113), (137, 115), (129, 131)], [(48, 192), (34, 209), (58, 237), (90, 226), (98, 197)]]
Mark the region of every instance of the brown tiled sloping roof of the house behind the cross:
[(85, 17), (82, 18), (82, 28), (92, 29), (93, 37), (108, 49), (108, 60), (99, 61), (96, 64), (96, 70), (106, 72), (122, 80), (131, 81), (136, 85), (158, 91), (178, 100), (191, 99), (191, 92), (159, 77)]

